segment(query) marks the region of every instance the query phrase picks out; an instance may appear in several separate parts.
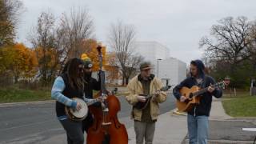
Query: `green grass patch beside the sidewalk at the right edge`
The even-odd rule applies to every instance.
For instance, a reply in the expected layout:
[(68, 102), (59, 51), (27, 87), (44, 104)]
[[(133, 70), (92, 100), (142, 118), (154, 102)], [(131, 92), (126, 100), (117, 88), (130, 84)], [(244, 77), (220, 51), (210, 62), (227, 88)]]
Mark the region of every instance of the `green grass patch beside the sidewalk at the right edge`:
[(256, 117), (256, 96), (250, 96), (248, 92), (224, 99), (222, 105), (226, 114), (232, 117)]

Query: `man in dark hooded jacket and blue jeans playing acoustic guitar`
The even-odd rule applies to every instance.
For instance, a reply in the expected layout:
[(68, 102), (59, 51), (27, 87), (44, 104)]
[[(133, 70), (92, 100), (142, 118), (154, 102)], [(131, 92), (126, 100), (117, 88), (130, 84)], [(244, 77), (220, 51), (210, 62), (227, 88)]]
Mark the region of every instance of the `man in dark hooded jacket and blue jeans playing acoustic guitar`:
[(222, 90), (214, 87), (214, 78), (206, 75), (206, 67), (201, 60), (194, 60), (190, 62), (190, 75), (183, 80), (178, 86), (174, 87), (174, 97), (181, 102), (186, 101), (186, 97), (181, 95), (179, 90), (183, 86), (191, 88), (192, 86), (199, 86), (201, 88), (208, 87), (208, 91), (202, 94), (200, 104), (187, 114), (187, 127), (189, 133), (190, 144), (206, 144), (209, 130), (209, 114), (212, 102), (212, 96), (216, 98), (222, 97)]

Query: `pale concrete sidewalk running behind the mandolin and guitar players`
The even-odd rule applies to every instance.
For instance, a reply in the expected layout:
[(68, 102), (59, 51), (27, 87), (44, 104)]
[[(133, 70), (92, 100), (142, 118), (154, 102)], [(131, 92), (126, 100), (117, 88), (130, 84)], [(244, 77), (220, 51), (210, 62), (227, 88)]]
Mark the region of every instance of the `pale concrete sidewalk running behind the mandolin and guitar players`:
[[(210, 120), (228, 120), (231, 117), (228, 116), (223, 107), (222, 102), (218, 99), (214, 99), (212, 103), (212, 109), (210, 113)], [(130, 138), (129, 143), (135, 144), (134, 127), (130, 127), (127, 130)], [(173, 111), (162, 114), (158, 118), (156, 124), (156, 130), (154, 134), (154, 144), (181, 144), (186, 137), (186, 116), (174, 114)], [(184, 142), (183, 142), (184, 143)], [(185, 143), (187, 143), (185, 141)]]

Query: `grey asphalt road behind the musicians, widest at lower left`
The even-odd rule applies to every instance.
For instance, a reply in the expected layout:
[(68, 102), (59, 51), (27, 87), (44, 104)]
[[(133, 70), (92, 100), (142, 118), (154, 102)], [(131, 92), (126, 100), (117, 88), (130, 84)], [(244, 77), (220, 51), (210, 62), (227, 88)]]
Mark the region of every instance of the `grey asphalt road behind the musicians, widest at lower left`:
[[(118, 113), (126, 128), (130, 121), (131, 106), (124, 97), (119, 97), (122, 109)], [(0, 106), (0, 143), (38, 143), (59, 134), (64, 134), (55, 117), (54, 102)], [(174, 109), (174, 97), (168, 95), (161, 104), (161, 114)]]

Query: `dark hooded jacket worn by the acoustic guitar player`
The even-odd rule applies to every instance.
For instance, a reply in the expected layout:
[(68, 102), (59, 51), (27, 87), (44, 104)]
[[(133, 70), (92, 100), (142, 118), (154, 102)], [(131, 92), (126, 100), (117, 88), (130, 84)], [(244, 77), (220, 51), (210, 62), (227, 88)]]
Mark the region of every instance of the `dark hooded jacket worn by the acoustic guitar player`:
[[(210, 76), (204, 75), (201, 88), (205, 88), (207, 86), (210, 86), (211, 84), (214, 84), (214, 78), (211, 78)], [(181, 97), (181, 94), (179, 93), (179, 90), (186, 86), (188, 88), (191, 88), (192, 86), (196, 86), (197, 82), (194, 77), (186, 78), (184, 81), (182, 81), (179, 85), (174, 87), (173, 93), (174, 97), (179, 99)], [(199, 115), (206, 115), (209, 116), (210, 114), (210, 108), (211, 108), (211, 102), (212, 102), (212, 96), (216, 98), (222, 97), (222, 90), (215, 88), (213, 93), (206, 92), (202, 94), (202, 98), (200, 100), (200, 104), (194, 107), (191, 111), (188, 112), (188, 114), (199, 116)]]

